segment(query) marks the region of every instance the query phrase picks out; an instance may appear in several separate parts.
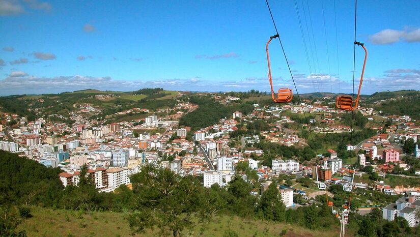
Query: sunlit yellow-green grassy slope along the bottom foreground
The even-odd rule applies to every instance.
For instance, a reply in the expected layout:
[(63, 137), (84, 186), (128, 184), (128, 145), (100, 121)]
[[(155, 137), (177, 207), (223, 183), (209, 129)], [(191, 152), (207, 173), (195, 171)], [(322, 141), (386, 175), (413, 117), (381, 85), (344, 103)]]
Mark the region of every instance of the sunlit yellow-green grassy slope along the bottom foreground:
[[(26, 230), (28, 236), (129, 236), (130, 228), (125, 217), (127, 213), (93, 212), (78, 217), (75, 211), (32, 208), (33, 217), (25, 220), (19, 229)], [(200, 235), (202, 225), (190, 231), (189, 236)], [(203, 236), (221, 236), (232, 229), (239, 236), (279, 236), (286, 228), (286, 236), (334, 236), (339, 229), (309, 230), (299, 226), (267, 221), (247, 220), (238, 217), (216, 216), (205, 226)], [(183, 232), (186, 235), (187, 231)], [(156, 236), (158, 230), (147, 231), (136, 236)]]

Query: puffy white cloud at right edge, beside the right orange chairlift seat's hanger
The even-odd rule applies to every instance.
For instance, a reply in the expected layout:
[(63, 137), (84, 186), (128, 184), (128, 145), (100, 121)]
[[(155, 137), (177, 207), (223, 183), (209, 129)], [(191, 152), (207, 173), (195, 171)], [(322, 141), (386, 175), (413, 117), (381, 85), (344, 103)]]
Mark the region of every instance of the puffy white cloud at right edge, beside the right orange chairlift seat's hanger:
[(393, 44), (404, 40), (406, 42), (420, 42), (420, 28), (409, 32), (408, 29), (398, 31), (396, 29), (384, 29), (374, 35), (369, 36), (369, 41), (373, 44)]

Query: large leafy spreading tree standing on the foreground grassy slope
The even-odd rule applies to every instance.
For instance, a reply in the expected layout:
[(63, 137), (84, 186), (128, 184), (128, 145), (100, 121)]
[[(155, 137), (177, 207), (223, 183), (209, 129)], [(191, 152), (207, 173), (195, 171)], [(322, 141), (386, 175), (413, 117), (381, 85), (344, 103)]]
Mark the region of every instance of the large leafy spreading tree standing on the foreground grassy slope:
[(179, 236), (210, 218), (217, 206), (209, 205), (209, 195), (191, 176), (181, 177), (169, 169), (152, 164), (131, 176), (136, 212), (128, 220), (133, 232), (158, 227), (162, 235)]

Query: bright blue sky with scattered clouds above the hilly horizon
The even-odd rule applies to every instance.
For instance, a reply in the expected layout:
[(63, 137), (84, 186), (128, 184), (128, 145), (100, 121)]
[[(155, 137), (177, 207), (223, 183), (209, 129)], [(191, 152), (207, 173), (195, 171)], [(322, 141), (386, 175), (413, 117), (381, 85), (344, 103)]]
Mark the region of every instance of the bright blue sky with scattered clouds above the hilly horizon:
[[(338, 43), (333, 0), (269, 3), (299, 93), (351, 92), (354, 2), (335, 0)], [(418, 9), (419, 1), (359, 0), (356, 40), (369, 51), (363, 94), (420, 89)], [(264, 0), (0, 0), (0, 95), (268, 91), (265, 44), (274, 34)], [(278, 41), (270, 57), (275, 87), (292, 87)], [(362, 60), (356, 47), (356, 86)]]

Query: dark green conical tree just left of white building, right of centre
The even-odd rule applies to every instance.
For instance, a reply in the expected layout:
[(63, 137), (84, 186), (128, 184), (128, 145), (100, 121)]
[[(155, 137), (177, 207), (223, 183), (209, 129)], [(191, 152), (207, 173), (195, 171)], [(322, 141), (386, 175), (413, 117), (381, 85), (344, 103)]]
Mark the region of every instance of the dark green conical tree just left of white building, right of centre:
[(286, 206), (282, 201), (282, 194), (277, 189), (275, 181), (268, 186), (268, 189), (261, 196), (258, 211), (262, 212), (267, 220), (286, 220)]

